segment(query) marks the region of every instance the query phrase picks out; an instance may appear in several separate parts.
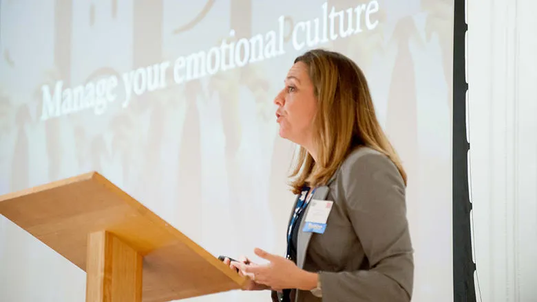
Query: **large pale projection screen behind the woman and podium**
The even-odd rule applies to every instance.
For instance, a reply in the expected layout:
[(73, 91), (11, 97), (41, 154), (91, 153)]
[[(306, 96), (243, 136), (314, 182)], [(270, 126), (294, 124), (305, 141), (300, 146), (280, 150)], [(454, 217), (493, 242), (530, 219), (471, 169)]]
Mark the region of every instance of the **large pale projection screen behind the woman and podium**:
[[(273, 98), (296, 56), (333, 49), (408, 172), (413, 301), (452, 301), (452, 0), (0, 5), (0, 194), (95, 170), (215, 256), (284, 255), (296, 147)], [(1, 217), (0, 293), (85, 301), (85, 273)]]

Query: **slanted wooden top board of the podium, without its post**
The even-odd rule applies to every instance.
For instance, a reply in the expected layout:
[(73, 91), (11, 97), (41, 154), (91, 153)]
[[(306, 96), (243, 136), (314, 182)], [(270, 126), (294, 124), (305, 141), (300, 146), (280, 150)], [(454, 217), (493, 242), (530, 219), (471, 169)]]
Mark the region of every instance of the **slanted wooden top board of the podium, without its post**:
[(88, 235), (113, 233), (143, 255), (143, 301), (235, 290), (246, 281), (97, 172), (0, 196), (0, 213), (84, 271)]

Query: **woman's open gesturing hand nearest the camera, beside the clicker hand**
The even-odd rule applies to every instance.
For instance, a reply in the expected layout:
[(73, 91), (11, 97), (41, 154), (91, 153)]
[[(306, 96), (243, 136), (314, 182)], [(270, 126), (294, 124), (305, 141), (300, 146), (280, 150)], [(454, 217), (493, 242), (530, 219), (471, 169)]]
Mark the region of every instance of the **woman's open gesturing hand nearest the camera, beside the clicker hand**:
[(297, 288), (310, 290), (317, 286), (317, 274), (298, 268), (291, 260), (255, 248), (255, 255), (268, 260), (268, 264), (243, 264), (241, 270), (252, 277), (256, 283), (264, 284), (273, 290)]

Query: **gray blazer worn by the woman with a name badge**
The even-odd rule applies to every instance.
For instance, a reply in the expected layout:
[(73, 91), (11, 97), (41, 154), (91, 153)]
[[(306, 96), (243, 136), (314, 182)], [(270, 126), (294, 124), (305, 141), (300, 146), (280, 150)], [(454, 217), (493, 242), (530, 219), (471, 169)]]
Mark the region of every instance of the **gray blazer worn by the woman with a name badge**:
[[(319, 273), (322, 298), (293, 290), (295, 301), (410, 301), (414, 258), (405, 185), (392, 161), (359, 148), (313, 199), (334, 204), (323, 234), (302, 232), (302, 220), (297, 266)], [(278, 301), (276, 292), (271, 296)]]

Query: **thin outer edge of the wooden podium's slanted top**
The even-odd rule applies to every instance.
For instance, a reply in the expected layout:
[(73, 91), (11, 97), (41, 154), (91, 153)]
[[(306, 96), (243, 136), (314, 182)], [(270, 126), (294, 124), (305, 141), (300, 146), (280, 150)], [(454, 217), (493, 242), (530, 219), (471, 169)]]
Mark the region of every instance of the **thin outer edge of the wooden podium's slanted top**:
[[(246, 281), (249, 281), (249, 277), (241, 277), (238, 275), (235, 271), (231, 270), (227, 265), (225, 265), (223, 262), (221, 262), (217, 257), (213, 256), (211, 253), (206, 251), (202, 246), (199, 244), (196, 244), (196, 242), (193, 242), (187, 235), (176, 229), (175, 227), (171, 226), (168, 222), (160, 218), (160, 216), (156, 215), (153, 211), (149, 210), (147, 207), (142, 205), (141, 202), (138, 202), (136, 199), (134, 199), (132, 196), (127, 194), (127, 192), (123, 191), (123, 189), (120, 189), (118, 186), (114, 185), (114, 183), (110, 182), (107, 178), (105, 178), (100, 173), (93, 171), (93, 172), (86, 172), (83, 174), (79, 174), (76, 176), (72, 176), (69, 178), (63, 178), (58, 181), (52, 181), (50, 183), (46, 183), (44, 185), (36, 185), (34, 187), (30, 187), (28, 189), (21, 189), (19, 191), (10, 192), (8, 194), (3, 194), (0, 196), (0, 202), (3, 202), (5, 200), (11, 200), (14, 198), (19, 198), (21, 196), (25, 196), (28, 194), (34, 194), (41, 191), (48, 191), (49, 189), (54, 189), (56, 187), (60, 187), (63, 185), (70, 185), (73, 183), (78, 183), (81, 181), (97, 181), (101, 185), (107, 187), (110, 191), (112, 191), (114, 194), (116, 194), (123, 202), (129, 204), (133, 209), (136, 209), (138, 213), (143, 215), (145, 218), (147, 218), (151, 223), (158, 224), (158, 225), (164, 225), (167, 232), (169, 232), (171, 235), (178, 237), (181, 242), (186, 244), (191, 250), (198, 253), (198, 255), (201, 255), (207, 262), (209, 262), (212, 266), (215, 268), (218, 268), (220, 272), (222, 272), (224, 275), (229, 277), (232, 281), (237, 283), (238, 288), (242, 288)], [(0, 213), (1, 214), (1, 213)], [(107, 231), (107, 230), (102, 230)], [(142, 255), (144, 257), (145, 255)], [(87, 272), (87, 268), (84, 269), (85, 272)]]

